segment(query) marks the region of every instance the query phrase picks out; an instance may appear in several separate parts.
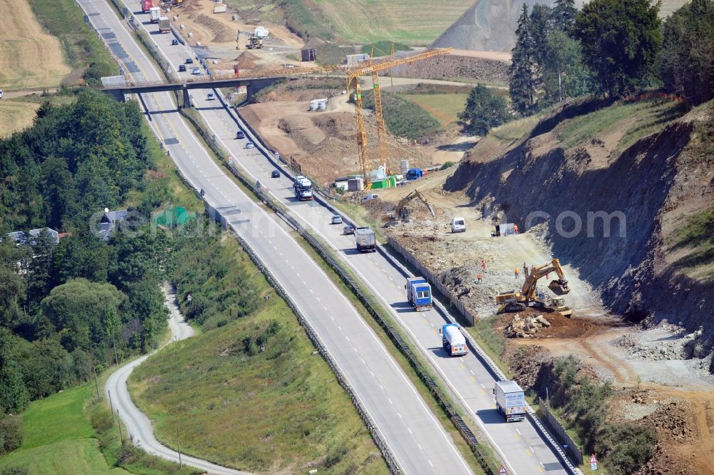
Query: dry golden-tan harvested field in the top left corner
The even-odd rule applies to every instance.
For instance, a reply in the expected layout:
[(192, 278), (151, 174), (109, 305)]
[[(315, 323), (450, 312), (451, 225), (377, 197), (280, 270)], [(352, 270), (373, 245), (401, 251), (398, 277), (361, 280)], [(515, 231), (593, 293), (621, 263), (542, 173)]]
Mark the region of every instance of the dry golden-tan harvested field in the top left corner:
[(0, 11), (0, 89), (58, 86), (71, 70), (59, 39), (43, 31), (26, 0), (0, 0)]

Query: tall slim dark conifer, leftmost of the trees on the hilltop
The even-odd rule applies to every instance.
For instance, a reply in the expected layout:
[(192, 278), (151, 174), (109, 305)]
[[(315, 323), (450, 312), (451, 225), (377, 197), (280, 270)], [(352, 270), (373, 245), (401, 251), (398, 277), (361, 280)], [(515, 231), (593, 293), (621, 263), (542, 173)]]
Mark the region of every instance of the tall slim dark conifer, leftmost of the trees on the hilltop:
[(531, 19), (528, 17), (528, 7), (523, 4), (523, 12), (518, 18), (516, 29), (516, 46), (511, 50), (508, 81), (513, 109), (523, 115), (533, 114), (535, 110), (535, 92), (538, 87), (536, 69)]

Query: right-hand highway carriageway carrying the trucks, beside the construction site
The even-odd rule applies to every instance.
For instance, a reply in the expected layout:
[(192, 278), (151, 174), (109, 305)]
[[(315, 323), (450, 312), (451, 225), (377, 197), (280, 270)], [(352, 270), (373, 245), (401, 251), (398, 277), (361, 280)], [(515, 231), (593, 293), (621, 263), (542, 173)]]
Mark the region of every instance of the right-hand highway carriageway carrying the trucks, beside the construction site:
[[(141, 15), (137, 17), (141, 18)], [(144, 24), (144, 28), (151, 32), (156, 26)], [(191, 50), (186, 47), (177, 49), (176, 46), (171, 46), (169, 36), (152, 34), (151, 38), (174, 66), (172, 74), (183, 77), (186, 74), (178, 73), (176, 65), (183, 62), (187, 51), (188, 56), (193, 54), (190, 54)], [(492, 394), (496, 380), (502, 379), (503, 376), (495, 369), (493, 362), (488, 361), (488, 357), (480, 349), (476, 349), (473, 340), (470, 342), (471, 354), (463, 358), (446, 357), (441, 349), (438, 329), (450, 316), (440, 309), (418, 313), (412, 311), (406, 304), (403, 288), (405, 273), (408, 271), (383, 251), (375, 254), (357, 253), (353, 237), (343, 236), (341, 226), (330, 226), (331, 216), (336, 214), (336, 211), (328, 204), (295, 201), (291, 175), (278, 165), (272, 154), (262, 145), (260, 137), (253, 134), (250, 127), (244, 124), (234, 111), (224, 107), (224, 104), (217, 104), (221, 101), (220, 91), (207, 89), (205, 93), (209, 91), (219, 96), (219, 99), (209, 101), (206, 94), (193, 91), (193, 102), (203, 121), (208, 124), (211, 134), (216, 136), (218, 145), (228, 150), (233, 161), (246, 170), (253, 180), (266, 184), (270, 194), (286, 205), (298, 221), (337, 251), (341, 259), (390, 309), (392, 316), (406, 329), (416, 348), (441, 374), (454, 398), (468, 409), (467, 417), (481, 427), (488, 440), (496, 447), (508, 468), (508, 474), (580, 473), (565, 459), (562, 450), (550, 439), (533, 414), (528, 421), (522, 423), (506, 424), (503, 421), (503, 417), (496, 411)], [(256, 144), (256, 149), (244, 149), (245, 141), (235, 139), (238, 128), (246, 131), (248, 139)], [(270, 173), (276, 168), (281, 170), (281, 177), (271, 179)]]

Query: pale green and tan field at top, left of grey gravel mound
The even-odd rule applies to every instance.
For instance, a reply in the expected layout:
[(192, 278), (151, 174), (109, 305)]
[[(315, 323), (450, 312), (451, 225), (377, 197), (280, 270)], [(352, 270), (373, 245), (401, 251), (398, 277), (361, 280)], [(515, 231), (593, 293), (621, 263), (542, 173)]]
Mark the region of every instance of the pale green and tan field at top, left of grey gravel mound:
[(431, 44), (474, 0), (315, 0), (339, 34), (356, 44)]

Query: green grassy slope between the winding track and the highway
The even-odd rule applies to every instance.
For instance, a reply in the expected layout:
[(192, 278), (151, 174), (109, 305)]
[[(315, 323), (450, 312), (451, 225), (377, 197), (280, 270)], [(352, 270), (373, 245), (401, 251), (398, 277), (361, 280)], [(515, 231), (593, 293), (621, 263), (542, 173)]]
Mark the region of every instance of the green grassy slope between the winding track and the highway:
[(131, 393), (157, 438), (174, 446), (178, 430), (186, 453), (249, 471), (386, 474), (348, 394), (285, 301), (237, 241), (226, 236), (210, 247), (211, 264), (196, 269), (193, 280), (221, 288), (218, 276), (238, 267), (257, 287), (253, 297), (269, 299), (233, 321), (233, 309), (214, 309), (204, 319), (213, 330), (167, 347), (134, 371)]

